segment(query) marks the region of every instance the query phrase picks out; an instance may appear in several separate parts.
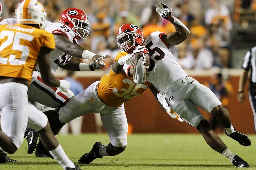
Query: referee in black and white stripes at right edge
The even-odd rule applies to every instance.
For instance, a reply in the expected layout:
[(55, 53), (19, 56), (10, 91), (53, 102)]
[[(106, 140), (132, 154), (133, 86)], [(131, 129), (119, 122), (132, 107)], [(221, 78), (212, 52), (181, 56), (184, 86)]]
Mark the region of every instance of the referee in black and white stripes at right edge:
[(244, 86), (246, 84), (248, 74), (250, 74), (250, 84), (248, 87), (249, 100), (254, 116), (254, 128), (256, 131), (256, 46), (251, 48), (244, 56), (244, 63), (242, 65), (243, 73), (239, 78), (237, 100), (243, 103), (245, 100)]

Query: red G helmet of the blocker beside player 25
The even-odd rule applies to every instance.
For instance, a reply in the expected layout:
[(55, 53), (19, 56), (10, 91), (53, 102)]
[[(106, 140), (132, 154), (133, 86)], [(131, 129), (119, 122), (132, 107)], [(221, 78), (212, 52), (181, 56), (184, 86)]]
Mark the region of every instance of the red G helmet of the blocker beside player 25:
[(76, 39), (84, 40), (89, 34), (89, 21), (84, 11), (70, 8), (60, 14), (60, 23), (68, 26), (75, 33)]

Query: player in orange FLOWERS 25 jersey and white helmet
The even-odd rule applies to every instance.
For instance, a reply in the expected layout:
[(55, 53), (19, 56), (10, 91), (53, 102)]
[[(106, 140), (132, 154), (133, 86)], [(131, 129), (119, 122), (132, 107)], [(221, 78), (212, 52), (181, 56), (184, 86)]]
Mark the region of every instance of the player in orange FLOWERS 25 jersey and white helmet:
[[(42, 30), (46, 19), (44, 7), (37, 0), (24, 0), (16, 14), (18, 24), (0, 26), (0, 146), (5, 152), (16, 152), (28, 126), (38, 131), (44, 146), (64, 170), (79, 169), (54, 137), (47, 116), (28, 102), (28, 85), (37, 63), (47, 85), (63, 91), (70, 87), (50, 70), (49, 53), (55, 48), (55, 41), (51, 33)], [(31, 117), (28, 109), (37, 116)]]

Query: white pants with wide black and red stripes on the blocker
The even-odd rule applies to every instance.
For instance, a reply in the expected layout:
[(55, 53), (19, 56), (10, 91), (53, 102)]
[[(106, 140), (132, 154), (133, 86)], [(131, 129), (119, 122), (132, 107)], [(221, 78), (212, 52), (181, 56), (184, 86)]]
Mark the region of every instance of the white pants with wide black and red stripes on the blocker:
[(48, 107), (63, 106), (66, 100), (73, 97), (71, 90), (63, 92), (59, 88), (45, 85), (40, 72), (33, 71), (31, 83), (28, 86), (28, 98)]

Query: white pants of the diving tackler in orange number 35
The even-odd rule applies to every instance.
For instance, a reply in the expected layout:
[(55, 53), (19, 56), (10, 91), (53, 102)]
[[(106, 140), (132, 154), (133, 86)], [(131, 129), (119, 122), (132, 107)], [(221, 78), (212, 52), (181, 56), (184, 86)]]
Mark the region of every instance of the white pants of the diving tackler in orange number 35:
[(106, 129), (111, 144), (116, 147), (127, 145), (128, 123), (124, 112), (124, 104), (120, 107), (107, 106), (97, 93), (94, 82), (84, 92), (76, 95), (64, 107), (60, 108), (60, 122), (68, 123), (76, 117), (95, 112), (100, 113), (101, 121)]

